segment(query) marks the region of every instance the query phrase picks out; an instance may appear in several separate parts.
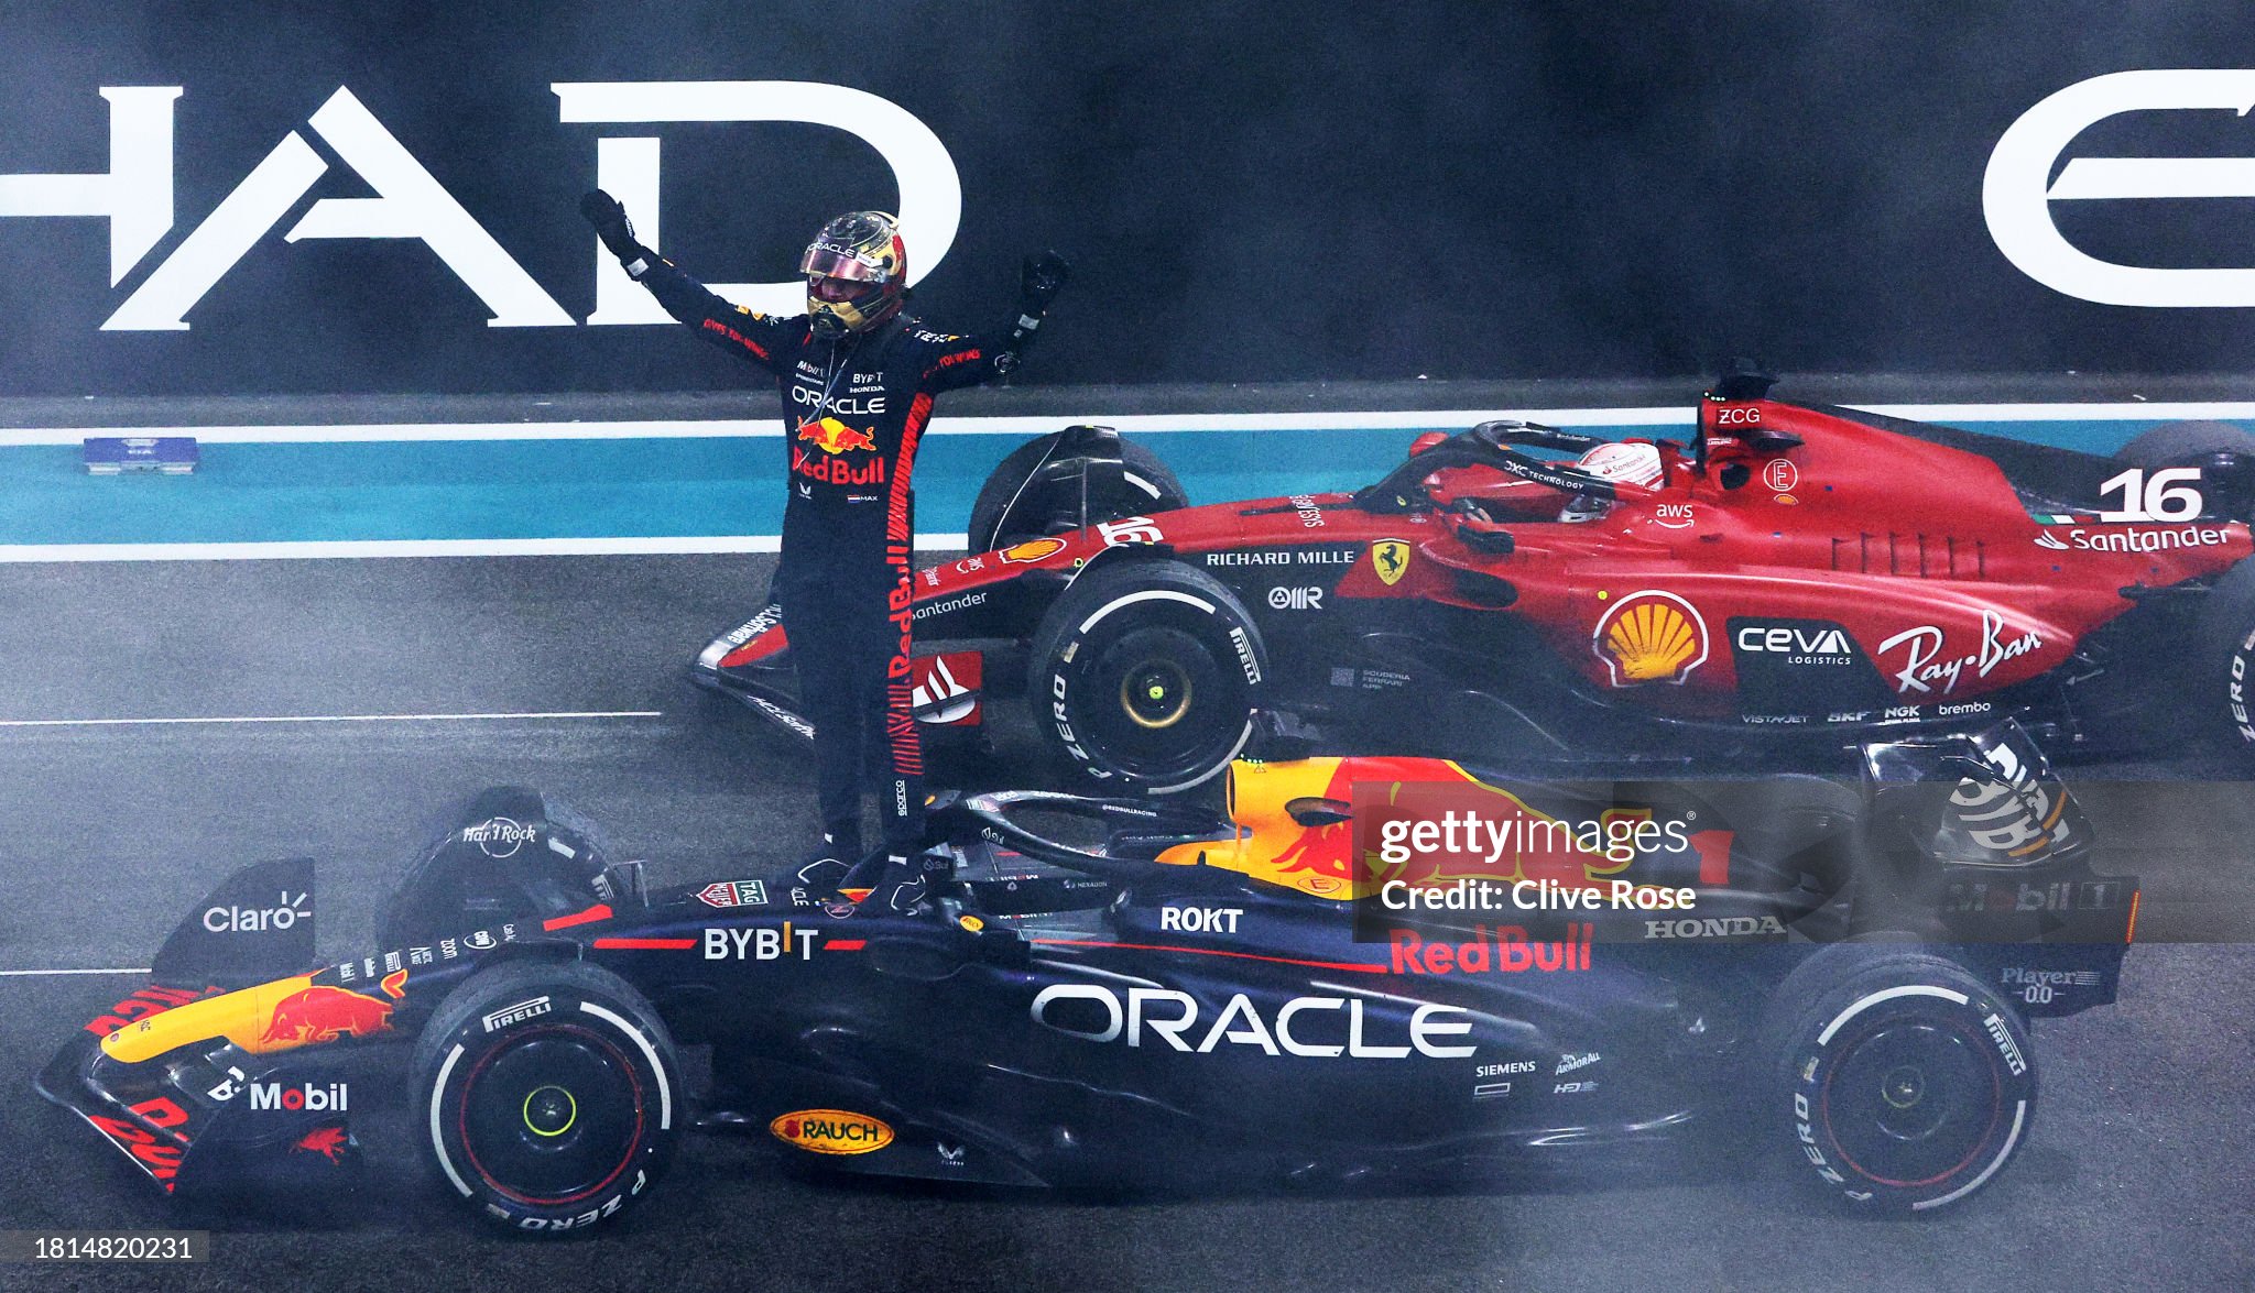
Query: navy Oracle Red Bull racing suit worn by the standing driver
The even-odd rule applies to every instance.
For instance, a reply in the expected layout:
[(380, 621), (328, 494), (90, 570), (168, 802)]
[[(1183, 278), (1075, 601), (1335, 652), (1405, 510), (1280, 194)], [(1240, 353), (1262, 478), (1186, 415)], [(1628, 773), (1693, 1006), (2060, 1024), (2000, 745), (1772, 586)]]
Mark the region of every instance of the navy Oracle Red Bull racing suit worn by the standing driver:
[(864, 770), (882, 768), (884, 849), (913, 856), (925, 845), (925, 755), (909, 707), (916, 446), (931, 399), (1010, 372), (1040, 311), (1017, 315), (997, 333), (1006, 340), (895, 313), (832, 342), (807, 315), (753, 313), (661, 257), (627, 270), (697, 336), (776, 374), (792, 489), (776, 599), (814, 723), (823, 833), (837, 856), (859, 856)]

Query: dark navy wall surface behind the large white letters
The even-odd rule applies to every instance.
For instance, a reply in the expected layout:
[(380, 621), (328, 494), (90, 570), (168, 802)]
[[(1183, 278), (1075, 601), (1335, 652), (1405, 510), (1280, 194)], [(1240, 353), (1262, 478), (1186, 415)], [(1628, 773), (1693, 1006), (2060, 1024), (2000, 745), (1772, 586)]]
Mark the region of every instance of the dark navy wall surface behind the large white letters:
[[(149, 270), (338, 86), (573, 315), (598, 133), (665, 140), (665, 250), (789, 277), (814, 225), (893, 205), (877, 155), (789, 124), (559, 124), (550, 81), (796, 79), (911, 110), (963, 173), (918, 291), (999, 322), (1017, 257), (1078, 279), (1026, 381), (2194, 374), (2244, 309), (2088, 304), (1982, 223), (1998, 135), (2070, 83), (2235, 61), (2255, 11), (1914, 0), (1590, 5), (0, 5), (0, 173), (104, 171), (101, 86), (183, 86), (176, 225), (110, 288), (108, 228), (0, 219), (0, 396), (726, 390), (656, 329), (487, 329), (413, 241), (277, 225), (185, 333), (101, 333)], [(2230, 113), (2140, 113), (2068, 155), (2255, 155)], [(354, 196), (331, 164), (300, 200)], [(2084, 250), (2255, 264), (2248, 198), (2054, 205)], [(916, 248), (911, 246), (911, 257)]]

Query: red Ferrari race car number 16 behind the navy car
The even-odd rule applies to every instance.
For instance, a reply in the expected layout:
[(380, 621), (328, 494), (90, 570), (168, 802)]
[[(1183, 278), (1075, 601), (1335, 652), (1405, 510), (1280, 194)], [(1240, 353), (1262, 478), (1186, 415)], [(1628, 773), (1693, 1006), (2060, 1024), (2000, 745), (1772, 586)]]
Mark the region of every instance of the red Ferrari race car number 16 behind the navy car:
[[(2018, 719), (2057, 752), (2255, 752), (2255, 437), (2115, 457), (1768, 399), (1734, 374), (1689, 444), (1491, 421), (1355, 493), (1186, 507), (1103, 428), (1012, 453), (972, 556), (920, 572), (918, 714), (1024, 687), (1058, 759), (1195, 786), (1256, 710), (1324, 748), (1522, 764), (1811, 766)], [(1572, 457), (1565, 457), (1572, 455)], [(810, 734), (785, 608), (695, 678)]]

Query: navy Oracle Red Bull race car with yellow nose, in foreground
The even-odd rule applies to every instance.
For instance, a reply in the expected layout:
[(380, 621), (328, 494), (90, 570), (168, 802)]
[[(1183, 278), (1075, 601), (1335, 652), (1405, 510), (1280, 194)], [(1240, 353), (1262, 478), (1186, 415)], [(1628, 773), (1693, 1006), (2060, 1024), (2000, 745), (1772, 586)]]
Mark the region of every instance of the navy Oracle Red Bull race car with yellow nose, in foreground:
[(2111, 1002), (2135, 924), (2009, 725), (1867, 746), (1860, 788), (1380, 757), (1227, 788), (1227, 815), (940, 795), (952, 883), (907, 910), (649, 888), (487, 791), (383, 951), (318, 962), (311, 863), (244, 867), (38, 1088), (169, 1194), (302, 1192), (354, 1167), (356, 1084), (399, 1063), (440, 1189), (550, 1234), (649, 1196), (692, 1126), (1028, 1187), (1518, 1178), (1723, 1126), (1933, 1210), (2027, 1144), (2027, 1020)]

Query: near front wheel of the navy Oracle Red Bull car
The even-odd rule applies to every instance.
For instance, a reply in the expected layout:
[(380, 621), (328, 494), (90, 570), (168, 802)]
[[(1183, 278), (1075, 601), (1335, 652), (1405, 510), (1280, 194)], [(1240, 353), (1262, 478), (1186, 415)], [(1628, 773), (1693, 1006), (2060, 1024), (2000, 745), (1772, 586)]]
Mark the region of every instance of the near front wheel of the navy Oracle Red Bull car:
[(519, 1234), (584, 1232), (647, 1196), (688, 1113), (656, 1011), (584, 962), (471, 975), (417, 1038), (410, 1081), (433, 1174)]

